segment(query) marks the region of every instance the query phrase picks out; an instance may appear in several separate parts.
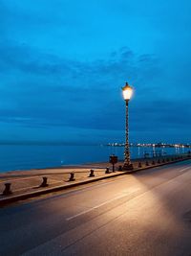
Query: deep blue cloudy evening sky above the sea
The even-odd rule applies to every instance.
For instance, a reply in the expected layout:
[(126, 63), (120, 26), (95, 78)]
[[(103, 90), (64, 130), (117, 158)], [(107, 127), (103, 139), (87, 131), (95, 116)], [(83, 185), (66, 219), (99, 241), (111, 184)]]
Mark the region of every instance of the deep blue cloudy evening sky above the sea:
[(190, 143), (190, 1), (0, 0), (0, 140)]

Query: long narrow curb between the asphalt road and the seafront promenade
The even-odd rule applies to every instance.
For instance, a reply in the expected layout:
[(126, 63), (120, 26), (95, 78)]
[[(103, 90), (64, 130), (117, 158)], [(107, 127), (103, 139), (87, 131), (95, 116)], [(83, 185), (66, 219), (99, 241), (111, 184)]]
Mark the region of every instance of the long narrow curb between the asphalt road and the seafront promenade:
[(86, 179), (86, 180), (71, 183), (71, 184), (68, 184), (68, 185), (60, 185), (60, 186), (56, 186), (56, 187), (53, 187), (53, 188), (47, 188), (47, 189), (44, 189), (44, 190), (37, 190), (35, 192), (29, 192), (29, 193), (16, 195), (16, 196), (11, 196), (11, 197), (8, 196), (7, 198), (1, 198), (0, 199), (0, 207), (6, 206), (9, 203), (16, 202), (16, 201), (19, 201), (19, 200), (24, 200), (24, 199), (28, 199), (28, 198), (35, 198), (35, 197), (38, 197), (38, 196), (41, 196), (41, 195), (46, 195), (46, 194), (49, 194), (49, 193), (58, 192), (58, 191), (73, 188), (73, 187), (76, 187), (76, 186), (85, 185), (85, 184), (88, 184), (88, 183), (93, 183), (93, 182), (96, 182), (98, 180), (111, 178), (111, 177), (115, 177), (115, 176), (120, 176), (120, 175), (134, 174), (134, 173), (138, 173), (139, 171), (145, 171), (145, 170), (148, 170), (148, 169), (152, 169), (152, 168), (156, 168), (156, 167), (160, 167), (160, 166), (164, 166), (164, 165), (170, 165), (170, 164), (178, 163), (178, 162), (189, 160), (189, 159), (190, 159), (190, 157), (189, 158), (184, 158), (184, 159), (178, 159), (178, 160), (175, 160), (173, 162), (167, 162), (167, 163), (160, 163), (158, 165), (145, 166), (145, 167), (137, 168), (137, 169), (134, 169), (134, 170), (131, 170), (131, 171), (122, 171), (122, 172), (120, 171), (120, 173), (117, 173), (117, 174), (108, 175), (108, 176), (107, 175), (106, 176), (100, 176), (100, 177), (96, 177), (94, 179)]

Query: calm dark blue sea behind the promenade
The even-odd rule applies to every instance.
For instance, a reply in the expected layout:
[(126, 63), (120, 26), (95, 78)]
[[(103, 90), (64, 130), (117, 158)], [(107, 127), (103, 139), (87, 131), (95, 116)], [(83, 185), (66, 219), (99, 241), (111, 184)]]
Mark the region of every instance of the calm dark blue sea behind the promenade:
[[(144, 155), (184, 153), (185, 148), (131, 147), (131, 158)], [(0, 145), (0, 173), (107, 162), (115, 154), (123, 159), (124, 148), (103, 145)]]

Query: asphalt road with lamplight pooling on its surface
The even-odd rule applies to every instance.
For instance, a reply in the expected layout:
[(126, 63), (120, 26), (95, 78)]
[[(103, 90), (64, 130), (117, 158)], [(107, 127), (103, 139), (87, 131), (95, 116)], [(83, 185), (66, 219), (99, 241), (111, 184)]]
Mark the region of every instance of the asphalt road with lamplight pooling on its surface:
[(191, 161), (0, 209), (0, 255), (191, 255)]

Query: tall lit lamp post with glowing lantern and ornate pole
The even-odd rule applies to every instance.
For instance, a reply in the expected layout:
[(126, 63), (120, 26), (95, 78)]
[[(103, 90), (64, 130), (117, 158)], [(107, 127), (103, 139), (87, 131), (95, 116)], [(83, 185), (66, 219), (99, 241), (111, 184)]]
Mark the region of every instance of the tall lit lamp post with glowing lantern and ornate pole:
[(126, 129), (125, 129), (126, 138), (125, 138), (125, 151), (124, 151), (125, 159), (124, 159), (122, 170), (126, 171), (126, 170), (133, 169), (133, 165), (130, 159), (130, 150), (129, 150), (129, 109), (128, 109), (129, 100), (131, 99), (133, 94), (133, 88), (129, 86), (128, 82), (126, 82), (125, 86), (122, 87), (122, 94), (126, 103)]

